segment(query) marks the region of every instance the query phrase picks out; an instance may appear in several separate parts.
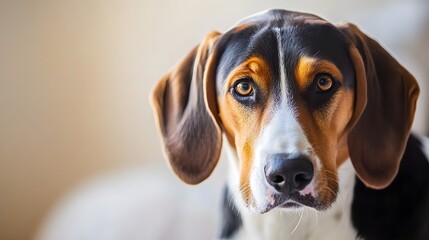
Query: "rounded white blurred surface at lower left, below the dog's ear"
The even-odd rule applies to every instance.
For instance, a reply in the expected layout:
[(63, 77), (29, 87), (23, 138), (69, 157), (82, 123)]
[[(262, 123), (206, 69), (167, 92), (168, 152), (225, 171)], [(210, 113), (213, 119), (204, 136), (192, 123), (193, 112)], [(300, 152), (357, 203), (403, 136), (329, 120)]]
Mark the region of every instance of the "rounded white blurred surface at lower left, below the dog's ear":
[(52, 212), (39, 240), (213, 239), (225, 167), (198, 186), (165, 166), (111, 173), (77, 188)]

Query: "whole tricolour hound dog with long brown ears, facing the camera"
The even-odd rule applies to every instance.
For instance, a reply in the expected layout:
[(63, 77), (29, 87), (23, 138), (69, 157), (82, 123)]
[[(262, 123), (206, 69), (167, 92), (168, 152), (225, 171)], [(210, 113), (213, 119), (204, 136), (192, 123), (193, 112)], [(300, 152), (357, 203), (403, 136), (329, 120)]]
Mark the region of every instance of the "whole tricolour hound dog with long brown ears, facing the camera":
[(418, 94), (355, 25), (269, 10), (209, 34), (152, 104), (186, 183), (227, 149), (221, 238), (429, 239), (429, 140), (410, 135)]

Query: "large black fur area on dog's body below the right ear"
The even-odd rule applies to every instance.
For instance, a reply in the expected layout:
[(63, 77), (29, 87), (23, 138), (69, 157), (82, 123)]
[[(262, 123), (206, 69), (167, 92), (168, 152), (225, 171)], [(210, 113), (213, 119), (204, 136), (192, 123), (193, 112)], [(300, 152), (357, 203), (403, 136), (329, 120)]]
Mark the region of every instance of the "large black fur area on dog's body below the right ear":
[(408, 139), (399, 173), (387, 188), (369, 189), (356, 178), (352, 221), (366, 240), (429, 239), (429, 162), (419, 139)]

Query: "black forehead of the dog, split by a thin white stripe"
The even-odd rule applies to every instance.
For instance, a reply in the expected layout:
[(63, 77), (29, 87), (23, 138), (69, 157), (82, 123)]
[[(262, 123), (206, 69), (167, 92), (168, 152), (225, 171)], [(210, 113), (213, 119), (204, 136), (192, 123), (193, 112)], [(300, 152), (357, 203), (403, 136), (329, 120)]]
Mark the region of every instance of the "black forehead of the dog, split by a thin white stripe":
[(353, 74), (348, 40), (334, 25), (311, 14), (270, 10), (250, 16), (226, 32), (219, 45), (218, 87), (235, 67), (253, 56), (263, 58), (272, 76), (279, 76), (279, 50), (288, 73), (301, 56), (310, 56), (333, 62), (345, 78)]

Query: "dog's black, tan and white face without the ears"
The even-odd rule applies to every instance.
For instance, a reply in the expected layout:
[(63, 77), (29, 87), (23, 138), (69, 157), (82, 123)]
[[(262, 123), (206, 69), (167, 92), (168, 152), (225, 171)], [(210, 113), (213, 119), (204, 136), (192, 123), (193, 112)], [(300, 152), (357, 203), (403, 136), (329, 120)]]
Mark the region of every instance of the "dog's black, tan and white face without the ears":
[(338, 189), (337, 167), (346, 158), (339, 150), (355, 102), (346, 38), (310, 16), (246, 23), (230, 34), (216, 71), (242, 197), (258, 212), (325, 209)]

